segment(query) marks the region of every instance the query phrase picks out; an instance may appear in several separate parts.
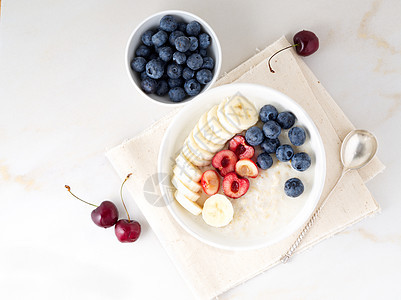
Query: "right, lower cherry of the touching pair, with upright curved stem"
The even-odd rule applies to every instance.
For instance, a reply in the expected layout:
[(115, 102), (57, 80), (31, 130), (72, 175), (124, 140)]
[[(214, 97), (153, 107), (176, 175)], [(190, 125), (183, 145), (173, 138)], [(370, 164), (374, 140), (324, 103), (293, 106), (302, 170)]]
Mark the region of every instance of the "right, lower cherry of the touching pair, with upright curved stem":
[(130, 219), (127, 207), (125, 206), (125, 203), (123, 200), (123, 186), (124, 186), (124, 183), (127, 181), (127, 179), (131, 175), (132, 175), (132, 173), (127, 175), (124, 182), (121, 184), (121, 188), (120, 188), (120, 197), (121, 197), (121, 201), (124, 205), (125, 212), (127, 213), (128, 220), (127, 219), (119, 220), (117, 222), (116, 226), (114, 227), (114, 232), (117, 236), (117, 239), (121, 243), (135, 242), (141, 234), (141, 224), (139, 224), (137, 221)]

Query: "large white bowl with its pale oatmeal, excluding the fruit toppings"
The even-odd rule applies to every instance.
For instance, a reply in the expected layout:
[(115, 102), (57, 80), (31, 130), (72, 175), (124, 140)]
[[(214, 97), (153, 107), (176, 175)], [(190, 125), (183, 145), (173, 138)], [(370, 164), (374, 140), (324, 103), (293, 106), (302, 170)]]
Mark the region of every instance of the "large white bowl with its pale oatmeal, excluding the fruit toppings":
[[(185, 145), (188, 144), (188, 140), (193, 139), (191, 134), (205, 130), (199, 129), (199, 127), (203, 127), (199, 124), (215, 122), (213, 119), (206, 118), (205, 113), (210, 116), (210, 113), (207, 114), (208, 111), (220, 109), (227, 99), (232, 99), (235, 95), (241, 95), (243, 99), (247, 99), (258, 113), (263, 106), (272, 105), (279, 112), (289, 111), (295, 115), (293, 127), (301, 127), (306, 133), (304, 143), (297, 146), (295, 152), (308, 153), (310, 166), (307, 170), (299, 172), (291, 165), (291, 161), (279, 161), (272, 155), (273, 163), (268, 169), (259, 168), (256, 178), (247, 178), (249, 188), (244, 195), (239, 198), (227, 197), (234, 211), (231, 221), (227, 225), (214, 227), (208, 225), (202, 218), (204, 203), (210, 198), (210, 195), (201, 189), (195, 193), (196, 198), (191, 199), (188, 203), (183, 203), (182, 197), (177, 198), (177, 192), (181, 188), (181, 186), (177, 187), (174, 179), (177, 165), (179, 165), (177, 158), (186, 155)], [(247, 111), (245, 108), (246, 105), (241, 107)], [(225, 117), (221, 114), (217, 115), (219, 118)], [(255, 124), (249, 123), (251, 118), (254, 116), (243, 116), (240, 124), (242, 127), (239, 126), (243, 131), (238, 131), (236, 135), (245, 135), (247, 126), (261, 126), (260, 120), (256, 123), (253, 122)], [(241, 122), (241, 118), (238, 120)], [(221, 121), (224, 125), (225, 121)], [(212, 125), (210, 127), (213, 128)], [(279, 136), (281, 145), (290, 144), (289, 130), (282, 129)], [(202, 136), (207, 135), (202, 134)], [(195, 140), (198, 140), (196, 136)], [(229, 140), (227, 139), (226, 143), (224, 140), (220, 141), (221, 147), (213, 148), (210, 152), (217, 153), (227, 149)], [(256, 157), (262, 150), (259, 146), (254, 148), (255, 154), (252, 160), (256, 162)], [(190, 174), (196, 178), (194, 181), (198, 178), (200, 180), (200, 174), (203, 172), (215, 169), (205, 157), (194, 157), (194, 160), (198, 165), (193, 174)], [(177, 223), (189, 234), (214, 247), (228, 250), (250, 250), (277, 243), (301, 229), (319, 202), (325, 182), (326, 157), (317, 127), (295, 100), (265, 86), (237, 83), (211, 89), (198, 96), (177, 113), (160, 146), (158, 174), (160, 191), (167, 208)], [(284, 191), (284, 185), (288, 179), (294, 177), (302, 181), (304, 190), (298, 197), (289, 197)], [(187, 184), (184, 182), (184, 185)], [(192, 187), (197, 188), (197, 183), (193, 183)], [(220, 184), (217, 194), (225, 194), (222, 184)], [(185, 195), (189, 198), (192, 196), (192, 194)]]

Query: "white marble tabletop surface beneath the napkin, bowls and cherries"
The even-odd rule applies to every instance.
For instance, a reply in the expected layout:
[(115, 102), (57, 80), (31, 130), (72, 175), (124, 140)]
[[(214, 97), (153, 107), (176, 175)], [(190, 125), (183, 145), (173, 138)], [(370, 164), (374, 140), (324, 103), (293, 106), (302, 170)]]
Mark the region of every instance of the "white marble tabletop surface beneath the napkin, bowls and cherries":
[[(285, 34), (310, 29), (306, 58), (345, 113), (380, 142), (385, 173), (368, 184), (382, 213), (297, 255), (220, 299), (395, 299), (401, 286), (401, 2), (2, 0), (0, 21), (0, 297), (191, 299), (143, 226), (135, 244), (97, 228), (90, 207), (119, 203), (104, 152), (169, 111), (131, 86), (124, 47), (165, 9), (206, 19), (229, 71)], [(352, 201), (352, 199), (350, 199)], [(122, 207), (119, 205), (120, 212)]]

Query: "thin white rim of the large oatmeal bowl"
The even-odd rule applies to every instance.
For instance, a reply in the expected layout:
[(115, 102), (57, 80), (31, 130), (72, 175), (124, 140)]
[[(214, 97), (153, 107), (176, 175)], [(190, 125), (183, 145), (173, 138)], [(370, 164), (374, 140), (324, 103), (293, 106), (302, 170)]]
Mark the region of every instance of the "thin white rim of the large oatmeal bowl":
[[(309, 119), (310, 121), (310, 127), (315, 131), (315, 133), (317, 133), (317, 143), (319, 145), (319, 149), (320, 150), (320, 155), (321, 155), (321, 168), (322, 168), (322, 176), (321, 176), (321, 182), (322, 184), (320, 184), (320, 186), (318, 187), (317, 190), (317, 195), (316, 195), (316, 199), (314, 199), (314, 202), (309, 204), (310, 207), (308, 207), (309, 209), (307, 210), (307, 213), (305, 213), (305, 216), (307, 215), (307, 217), (304, 217), (304, 222), (299, 222), (300, 224), (297, 224), (297, 226), (293, 226), (294, 228), (288, 228), (286, 231), (284, 231), (281, 235), (277, 236), (275, 239), (272, 240), (267, 240), (266, 242), (261, 242), (261, 243), (257, 243), (254, 245), (236, 245), (236, 246), (232, 246), (232, 245), (224, 245), (224, 244), (219, 244), (216, 243), (214, 241), (210, 241), (207, 238), (204, 238), (203, 236), (199, 235), (198, 233), (196, 233), (195, 231), (193, 231), (190, 226), (187, 226), (178, 216), (178, 214), (175, 213), (175, 211), (173, 210), (171, 203), (169, 203), (169, 199), (167, 199), (167, 195), (165, 193), (163, 193), (164, 191), (164, 186), (162, 184), (163, 182), (163, 175), (162, 175), (162, 160), (163, 160), (163, 153), (162, 153), (162, 149), (165, 148), (165, 144), (167, 142), (166, 137), (169, 136), (170, 131), (175, 130), (174, 128), (174, 120), (176, 120), (180, 114), (187, 112), (190, 109), (190, 105), (184, 107), (182, 110), (180, 110), (173, 118), (172, 122), (169, 124), (169, 127), (167, 128), (164, 136), (163, 136), (163, 140), (160, 144), (160, 148), (159, 148), (159, 154), (158, 154), (158, 161), (157, 161), (157, 172), (158, 172), (158, 181), (159, 181), (159, 188), (160, 191), (162, 191), (162, 197), (163, 200), (167, 206), (167, 209), (170, 211), (171, 215), (173, 216), (173, 218), (175, 219), (175, 221), (181, 226), (181, 228), (183, 228), (187, 233), (189, 233), (191, 236), (195, 237), (196, 239), (198, 239), (199, 241), (202, 241), (203, 243), (219, 248), (219, 249), (224, 249), (224, 250), (231, 250), (231, 251), (244, 251), (244, 250), (255, 250), (255, 249), (261, 249), (264, 247), (268, 247), (269, 245), (273, 245), (276, 244), (277, 242), (280, 242), (286, 238), (288, 238), (291, 234), (294, 234), (295, 232), (297, 232), (297, 230), (301, 230), (303, 224), (305, 224), (305, 222), (307, 222), (309, 220), (309, 218), (311, 217), (311, 215), (313, 214), (313, 212), (316, 210), (317, 205), (320, 201), (320, 198), (322, 196), (322, 191), (323, 188), (325, 186), (325, 179), (326, 179), (326, 172), (327, 172), (327, 168), (326, 168), (326, 152), (325, 152), (325, 148), (324, 148), (324, 144), (320, 135), (320, 132), (318, 130), (318, 128), (316, 127), (314, 121), (312, 120), (312, 118), (306, 113), (306, 111), (301, 107), (301, 105), (299, 105), (295, 100), (293, 100), (291, 97), (277, 91), (276, 89), (264, 86), (264, 85), (259, 85), (259, 84), (252, 84), (252, 83), (231, 83), (231, 84), (226, 84), (226, 85), (222, 85), (216, 88), (213, 88), (212, 90), (216, 90), (216, 89), (227, 89), (228, 86), (233, 87), (233, 86), (238, 86), (240, 87), (244, 87), (244, 86), (248, 86), (248, 87), (255, 87), (255, 88), (263, 88), (263, 89), (269, 89), (272, 92), (276, 93), (277, 95), (279, 95), (280, 97), (286, 97), (288, 99), (290, 99), (293, 104), (295, 106), (297, 106), (298, 109), (300, 109), (301, 111), (304, 112), (305, 116)], [(203, 95), (205, 96), (205, 95)], [(195, 101), (202, 101), (202, 98), (196, 99)], [(308, 126), (309, 127), (309, 126)], [(315, 151), (317, 151), (315, 150)], [(306, 202), (307, 203), (307, 202)], [(289, 223), (290, 224), (290, 223)], [(288, 226), (288, 225), (287, 225)]]

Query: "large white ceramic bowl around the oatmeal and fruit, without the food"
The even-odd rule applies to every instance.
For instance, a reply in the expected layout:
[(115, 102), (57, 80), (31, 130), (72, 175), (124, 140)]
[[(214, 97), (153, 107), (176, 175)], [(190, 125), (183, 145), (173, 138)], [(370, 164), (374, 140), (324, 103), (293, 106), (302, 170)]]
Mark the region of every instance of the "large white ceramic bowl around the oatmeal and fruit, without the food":
[[(184, 140), (198, 122), (200, 116), (215, 104), (220, 103), (225, 97), (240, 92), (255, 106), (260, 109), (263, 105), (272, 104), (279, 111), (289, 110), (297, 117), (298, 124), (306, 129), (309, 143), (313, 149), (314, 168), (312, 186), (308, 187), (309, 195), (304, 206), (292, 221), (284, 228), (263, 238), (230, 238), (222, 234), (216, 228), (207, 225), (202, 216), (193, 216), (175, 201), (171, 185), (171, 174), (174, 159), (180, 152)], [(288, 96), (268, 87), (255, 84), (230, 84), (217, 87), (197, 97), (193, 102), (185, 106), (174, 118), (168, 127), (160, 146), (158, 157), (158, 174), (160, 190), (168, 209), (175, 220), (191, 235), (197, 239), (218, 248), (229, 250), (249, 250), (265, 247), (276, 243), (292, 233), (298, 231), (308, 220), (320, 199), (326, 176), (326, 157), (322, 139), (312, 119), (294, 100)], [(168, 174), (167, 176), (165, 176)]]

